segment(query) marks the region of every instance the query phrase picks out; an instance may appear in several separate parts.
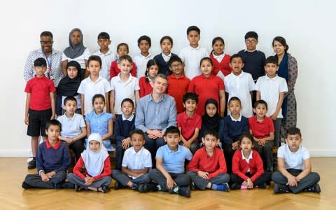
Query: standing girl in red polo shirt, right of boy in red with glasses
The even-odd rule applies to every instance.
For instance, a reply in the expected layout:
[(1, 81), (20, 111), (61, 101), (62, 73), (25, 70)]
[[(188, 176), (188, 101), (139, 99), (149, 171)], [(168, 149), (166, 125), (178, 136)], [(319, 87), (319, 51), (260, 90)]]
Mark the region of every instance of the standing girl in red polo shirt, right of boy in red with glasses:
[(188, 92), (195, 92), (199, 97), (199, 105), (196, 112), (204, 115), (204, 103), (213, 98), (219, 104), (219, 114), (223, 118), (225, 111), (224, 83), (221, 78), (211, 74), (213, 64), (210, 57), (203, 57), (200, 62), (202, 74), (191, 80)]

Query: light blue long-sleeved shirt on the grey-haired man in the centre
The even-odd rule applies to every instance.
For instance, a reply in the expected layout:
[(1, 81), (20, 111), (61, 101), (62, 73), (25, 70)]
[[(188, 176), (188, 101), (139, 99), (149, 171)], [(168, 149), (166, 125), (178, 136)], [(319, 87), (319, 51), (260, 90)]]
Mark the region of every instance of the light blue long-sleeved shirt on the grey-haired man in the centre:
[(155, 102), (152, 94), (139, 99), (135, 127), (146, 130), (162, 130), (176, 126), (176, 106), (173, 97), (163, 94), (160, 102)]

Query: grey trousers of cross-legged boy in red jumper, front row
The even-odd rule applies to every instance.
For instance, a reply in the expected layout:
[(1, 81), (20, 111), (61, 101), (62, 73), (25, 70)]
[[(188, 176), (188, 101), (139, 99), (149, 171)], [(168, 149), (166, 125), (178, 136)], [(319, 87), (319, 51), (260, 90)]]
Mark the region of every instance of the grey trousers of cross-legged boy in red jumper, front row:
[(224, 184), (230, 181), (229, 174), (218, 174), (218, 176), (215, 176), (212, 179), (203, 179), (201, 176), (197, 175), (197, 172), (188, 172), (187, 175), (200, 190), (205, 190), (209, 182), (214, 184)]

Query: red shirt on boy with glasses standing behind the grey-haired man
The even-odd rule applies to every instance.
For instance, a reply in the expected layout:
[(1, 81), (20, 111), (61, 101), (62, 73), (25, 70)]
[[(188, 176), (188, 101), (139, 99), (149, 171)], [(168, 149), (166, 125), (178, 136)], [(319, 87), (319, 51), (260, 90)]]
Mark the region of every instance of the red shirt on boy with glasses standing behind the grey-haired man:
[(189, 83), (190, 79), (186, 78), (184, 75), (180, 78), (176, 78), (173, 74), (168, 76), (167, 94), (174, 97), (177, 113), (184, 111), (183, 95), (186, 94)]

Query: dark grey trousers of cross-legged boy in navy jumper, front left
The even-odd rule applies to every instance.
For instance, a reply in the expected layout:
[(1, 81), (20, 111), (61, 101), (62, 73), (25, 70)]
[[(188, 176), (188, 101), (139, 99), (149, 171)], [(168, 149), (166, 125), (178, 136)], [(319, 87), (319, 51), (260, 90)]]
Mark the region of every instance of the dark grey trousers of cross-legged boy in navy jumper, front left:
[(55, 184), (62, 183), (66, 179), (66, 172), (59, 171), (50, 178), (49, 181), (43, 182), (38, 174), (28, 174), (25, 178), (25, 183), (33, 188), (55, 188)]

